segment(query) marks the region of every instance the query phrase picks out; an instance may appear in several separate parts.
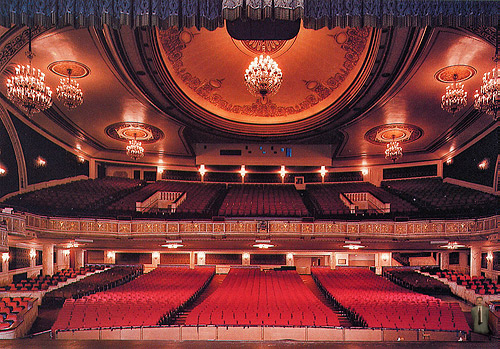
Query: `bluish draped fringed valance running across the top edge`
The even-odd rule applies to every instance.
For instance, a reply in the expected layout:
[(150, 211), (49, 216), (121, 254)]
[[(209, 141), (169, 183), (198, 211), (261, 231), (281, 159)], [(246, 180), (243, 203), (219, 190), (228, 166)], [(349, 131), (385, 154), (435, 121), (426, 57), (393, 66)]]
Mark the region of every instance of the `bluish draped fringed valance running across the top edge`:
[(497, 26), (498, 0), (0, 0), (0, 25), (206, 28), (224, 20), (335, 26)]

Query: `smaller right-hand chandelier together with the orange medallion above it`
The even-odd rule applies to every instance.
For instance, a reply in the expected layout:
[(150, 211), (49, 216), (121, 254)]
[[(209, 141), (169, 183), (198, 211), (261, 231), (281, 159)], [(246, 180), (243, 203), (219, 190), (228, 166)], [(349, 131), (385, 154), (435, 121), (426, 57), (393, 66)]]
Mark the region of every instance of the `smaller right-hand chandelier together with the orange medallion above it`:
[(434, 75), (436, 80), (449, 84), (441, 97), (441, 108), (444, 111), (455, 115), (467, 106), (467, 92), (465, 92), (462, 82), (475, 74), (476, 69), (470, 65), (451, 65), (436, 72)]

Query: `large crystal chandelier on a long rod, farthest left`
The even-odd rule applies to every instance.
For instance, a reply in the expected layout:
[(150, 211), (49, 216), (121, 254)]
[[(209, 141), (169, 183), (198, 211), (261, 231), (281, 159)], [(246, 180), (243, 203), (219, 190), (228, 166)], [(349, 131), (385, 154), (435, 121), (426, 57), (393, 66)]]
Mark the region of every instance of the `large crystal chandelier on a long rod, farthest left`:
[(7, 97), (29, 116), (52, 105), (52, 91), (45, 85), (45, 74), (40, 69), (33, 68), (31, 60), (31, 28), (29, 29), (28, 65), (18, 65), (14, 76), (7, 79)]

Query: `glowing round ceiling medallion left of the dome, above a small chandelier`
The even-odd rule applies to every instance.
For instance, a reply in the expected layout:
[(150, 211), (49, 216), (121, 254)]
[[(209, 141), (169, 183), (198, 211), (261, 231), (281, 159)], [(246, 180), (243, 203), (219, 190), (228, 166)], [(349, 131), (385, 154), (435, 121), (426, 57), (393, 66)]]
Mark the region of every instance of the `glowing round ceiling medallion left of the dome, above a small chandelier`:
[(142, 143), (155, 143), (165, 135), (162, 130), (142, 122), (117, 122), (105, 129), (106, 134), (116, 140), (128, 142), (136, 140)]

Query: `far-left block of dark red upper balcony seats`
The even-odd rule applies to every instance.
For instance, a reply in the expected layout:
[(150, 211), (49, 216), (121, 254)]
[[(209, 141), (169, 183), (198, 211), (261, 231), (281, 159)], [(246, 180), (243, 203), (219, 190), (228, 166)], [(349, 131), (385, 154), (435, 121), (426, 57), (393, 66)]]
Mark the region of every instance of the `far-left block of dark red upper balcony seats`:
[(16, 195), (5, 204), (48, 215), (96, 215), (103, 205), (138, 189), (141, 183), (118, 177), (80, 180)]

